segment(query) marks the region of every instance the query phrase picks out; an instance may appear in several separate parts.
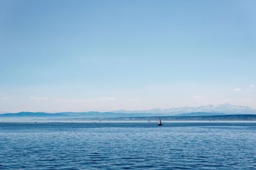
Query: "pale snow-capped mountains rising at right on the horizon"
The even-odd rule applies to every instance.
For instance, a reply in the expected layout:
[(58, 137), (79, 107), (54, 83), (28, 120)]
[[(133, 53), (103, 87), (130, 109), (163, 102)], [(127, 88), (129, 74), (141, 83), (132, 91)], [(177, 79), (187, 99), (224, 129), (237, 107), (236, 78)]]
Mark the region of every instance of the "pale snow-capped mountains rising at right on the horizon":
[(256, 109), (249, 106), (236, 106), (232, 104), (210, 104), (206, 106), (197, 106), (197, 107), (182, 107), (182, 108), (170, 108), (170, 109), (161, 109), (156, 108), (153, 110), (117, 110), (113, 111), (116, 113), (161, 113), (166, 115), (177, 115), (180, 113), (193, 113), (193, 112), (210, 112), (210, 113), (227, 113), (227, 114), (256, 114)]

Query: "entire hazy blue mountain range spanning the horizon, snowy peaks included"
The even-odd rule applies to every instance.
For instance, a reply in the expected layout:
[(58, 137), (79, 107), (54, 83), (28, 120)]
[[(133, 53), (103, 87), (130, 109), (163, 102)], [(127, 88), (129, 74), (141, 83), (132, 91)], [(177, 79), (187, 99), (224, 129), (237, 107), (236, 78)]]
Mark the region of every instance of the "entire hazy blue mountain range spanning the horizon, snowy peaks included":
[(202, 117), (216, 115), (248, 115), (256, 114), (256, 110), (248, 106), (231, 104), (207, 105), (172, 109), (154, 109), (141, 111), (118, 110), (111, 112), (19, 112), (0, 114), (0, 118), (131, 118), (131, 117)]

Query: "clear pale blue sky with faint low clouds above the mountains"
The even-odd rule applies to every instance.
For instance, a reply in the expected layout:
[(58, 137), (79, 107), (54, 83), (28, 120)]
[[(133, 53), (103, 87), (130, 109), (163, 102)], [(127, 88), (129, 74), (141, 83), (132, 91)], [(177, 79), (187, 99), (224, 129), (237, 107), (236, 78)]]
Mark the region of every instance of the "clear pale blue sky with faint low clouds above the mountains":
[(256, 108), (256, 1), (0, 1), (0, 112)]

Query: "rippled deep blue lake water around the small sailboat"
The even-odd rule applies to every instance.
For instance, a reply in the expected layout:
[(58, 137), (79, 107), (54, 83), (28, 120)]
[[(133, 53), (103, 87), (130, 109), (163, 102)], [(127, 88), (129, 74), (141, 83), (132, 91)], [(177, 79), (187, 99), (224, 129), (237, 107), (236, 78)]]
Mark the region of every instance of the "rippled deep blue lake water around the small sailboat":
[(0, 123), (0, 169), (256, 169), (256, 123)]

